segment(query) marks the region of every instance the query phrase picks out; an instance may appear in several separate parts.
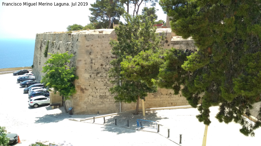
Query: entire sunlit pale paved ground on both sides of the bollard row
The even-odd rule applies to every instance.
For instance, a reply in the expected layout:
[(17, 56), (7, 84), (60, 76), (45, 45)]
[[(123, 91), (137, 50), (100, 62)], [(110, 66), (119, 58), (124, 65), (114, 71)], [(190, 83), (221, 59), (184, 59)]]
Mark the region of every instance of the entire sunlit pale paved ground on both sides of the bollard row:
[[(69, 119), (85, 119), (99, 115), (69, 115), (64, 108), (51, 109), (49, 105), (32, 108), (28, 106), (28, 94), (23, 94), (16, 82), (18, 76), (0, 75), (0, 125), (8, 132), (17, 133), (22, 141), (19, 146), (28, 146), (35, 141), (64, 143), (65, 145), (178, 145), (179, 134), (182, 134), (182, 146), (202, 145), (204, 124), (197, 121), (197, 109), (172, 109), (146, 112), (146, 116), (120, 114), (84, 122)], [(255, 137), (240, 134), (240, 125), (219, 123), (215, 119), (218, 107), (211, 107), (211, 121), (207, 132), (207, 145), (211, 146), (245, 146), (261, 145), (261, 129)], [(117, 126), (114, 119), (117, 118)], [(135, 120), (146, 119), (160, 124), (160, 132), (155, 129), (135, 130)], [(126, 120), (130, 120), (130, 127)], [(170, 137), (168, 137), (168, 128)], [(152, 131), (152, 132), (147, 132)], [(65, 142), (64, 142), (65, 141)]]

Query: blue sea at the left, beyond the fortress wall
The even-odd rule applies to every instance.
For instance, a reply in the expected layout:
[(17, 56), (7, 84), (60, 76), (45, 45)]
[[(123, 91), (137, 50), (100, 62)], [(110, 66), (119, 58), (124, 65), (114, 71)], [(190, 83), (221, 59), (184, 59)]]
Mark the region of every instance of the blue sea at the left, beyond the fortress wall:
[(0, 38), (0, 68), (33, 65), (35, 39)]

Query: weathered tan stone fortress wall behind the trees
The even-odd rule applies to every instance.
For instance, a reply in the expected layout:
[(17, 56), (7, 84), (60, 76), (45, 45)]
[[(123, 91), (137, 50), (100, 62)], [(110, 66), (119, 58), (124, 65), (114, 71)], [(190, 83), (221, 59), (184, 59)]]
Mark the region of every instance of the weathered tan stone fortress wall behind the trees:
[[(164, 32), (166, 40), (162, 42), (164, 48), (196, 50), (192, 40), (184, 40), (175, 36), (170, 28), (157, 29), (158, 33)], [(76, 67), (76, 75), (79, 80), (75, 81), (77, 93), (69, 102), (73, 108), (73, 114), (110, 114), (120, 112), (120, 103), (116, 103), (114, 95), (109, 92), (113, 85), (109, 82), (108, 71), (112, 67), (109, 63), (116, 56), (110, 50), (110, 40), (116, 39), (114, 29), (98, 29), (66, 32), (51, 32), (37, 34), (35, 39), (33, 73), (40, 79), (44, 74), (41, 72), (46, 60), (44, 50), (49, 42), (49, 53), (74, 54), (71, 65)], [(181, 94), (174, 95), (172, 90), (158, 89), (158, 92), (145, 97), (145, 108), (158, 108), (189, 105)], [(141, 103), (141, 102), (140, 102)], [(121, 103), (121, 111), (134, 110), (136, 103)], [(141, 108), (141, 104), (140, 104)]]

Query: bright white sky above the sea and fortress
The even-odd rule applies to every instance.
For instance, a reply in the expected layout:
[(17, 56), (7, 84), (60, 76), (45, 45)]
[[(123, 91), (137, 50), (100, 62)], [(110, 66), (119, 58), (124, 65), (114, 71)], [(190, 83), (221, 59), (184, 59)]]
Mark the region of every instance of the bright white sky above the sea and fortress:
[[(23, 5), (24, 3), (37, 3), (36, 6)], [(51, 3), (52, 5), (40, 6), (39, 2)], [(73, 24), (82, 26), (90, 23), (91, 12), (90, 4), (96, 0), (87, 0), (88, 5), (78, 6), (78, 3), (84, 1), (74, 0), (0, 0), (0, 39), (34, 39), (36, 34), (44, 32), (67, 31), (67, 27)], [(8, 6), (5, 3), (21, 3), (21, 6)], [(68, 3), (69, 6), (59, 6), (57, 3)], [(72, 6), (76, 3), (76, 6)], [(139, 13), (145, 5), (140, 6)], [(150, 4), (146, 5), (151, 7)], [(162, 11), (159, 4), (155, 7), (158, 20), (166, 21), (166, 14)], [(127, 10), (127, 9), (126, 9)], [(133, 7), (130, 8), (133, 13)]]

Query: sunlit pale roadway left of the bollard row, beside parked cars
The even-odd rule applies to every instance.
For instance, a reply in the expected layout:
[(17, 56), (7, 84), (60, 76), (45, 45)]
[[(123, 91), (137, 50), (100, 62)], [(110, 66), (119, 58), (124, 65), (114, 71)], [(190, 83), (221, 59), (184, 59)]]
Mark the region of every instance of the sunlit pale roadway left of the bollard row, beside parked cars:
[(94, 115), (69, 115), (63, 107), (51, 109), (49, 105), (29, 107), (28, 94), (24, 94), (23, 88), (16, 83), (17, 77), (0, 75), (0, 125), (5, 126), (7, 132), (19, 135), (22, 142), (19, 146), (28, 146), (36, 141), (74, 146), (173, 145), (172, 141), (153, 132), (69, 120)]

